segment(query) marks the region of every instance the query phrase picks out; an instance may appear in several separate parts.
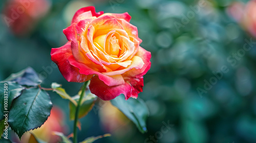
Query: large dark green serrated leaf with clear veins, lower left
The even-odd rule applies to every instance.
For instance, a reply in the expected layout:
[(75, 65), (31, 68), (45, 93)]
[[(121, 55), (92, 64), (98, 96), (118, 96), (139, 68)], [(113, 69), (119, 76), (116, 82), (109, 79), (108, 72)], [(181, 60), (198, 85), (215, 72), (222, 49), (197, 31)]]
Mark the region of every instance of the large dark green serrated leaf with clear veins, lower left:
[(48, 93), (40, 88), (25, 89), (13, 100), (9, 112), (9, 125), (20, 137), (31, 129), (44, 124), (50, 115), (52, 102)]

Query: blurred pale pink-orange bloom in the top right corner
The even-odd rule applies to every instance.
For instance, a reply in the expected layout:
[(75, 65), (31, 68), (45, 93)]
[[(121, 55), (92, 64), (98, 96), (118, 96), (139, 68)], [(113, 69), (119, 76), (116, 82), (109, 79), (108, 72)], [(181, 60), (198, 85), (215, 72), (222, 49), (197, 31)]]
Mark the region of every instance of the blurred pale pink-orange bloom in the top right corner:
[(249, 1), (246, 5), (234, 2), (228, 8), (228, 13), (251, 35), (256, 37), (256, 1)]

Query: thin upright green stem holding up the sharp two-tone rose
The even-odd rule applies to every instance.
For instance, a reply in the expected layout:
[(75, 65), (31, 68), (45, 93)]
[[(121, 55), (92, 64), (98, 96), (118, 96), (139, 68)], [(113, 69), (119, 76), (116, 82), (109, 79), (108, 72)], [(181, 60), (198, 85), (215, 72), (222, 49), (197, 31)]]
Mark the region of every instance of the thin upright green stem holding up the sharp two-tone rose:
[(82, 92), (80, 94), (80, 98), (79, 101), (77, 103), (77, 107), (76, 107), (76, 113), (75, 113), (75, 121), (74, 121), (74, 137), (73, 137), (73, 141), (74, 143), (77, 143), (77, 122), (78, 122), (78, 113), (79, 113), (79, 109), (81, 106), (81, 101), (83, 99), (84, 96), (84, 91), (86, 90), (87, 84), (89, 81), (84, 82), (83, 86), (82, 86)]

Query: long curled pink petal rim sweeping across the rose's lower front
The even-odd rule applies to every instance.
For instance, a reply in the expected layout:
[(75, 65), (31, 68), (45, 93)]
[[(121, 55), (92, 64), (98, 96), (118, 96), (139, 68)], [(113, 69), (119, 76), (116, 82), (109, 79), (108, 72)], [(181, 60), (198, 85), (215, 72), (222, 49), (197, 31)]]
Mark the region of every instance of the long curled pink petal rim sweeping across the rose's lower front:
[(70, 56), (68, 58), (68, 61), (71, 65), (79, 68), (79, 73), (82, 75), (98, 75), (99, 79), (103, 81), (108, 86), (115, 86), (115, 85), (121, 85), (124, 84), (123, 77), (121, 75), (115, 75), (115, 76), (106, 76), (98, 71), (88, 67), (86, 64), (77, 62), (73, 56)]

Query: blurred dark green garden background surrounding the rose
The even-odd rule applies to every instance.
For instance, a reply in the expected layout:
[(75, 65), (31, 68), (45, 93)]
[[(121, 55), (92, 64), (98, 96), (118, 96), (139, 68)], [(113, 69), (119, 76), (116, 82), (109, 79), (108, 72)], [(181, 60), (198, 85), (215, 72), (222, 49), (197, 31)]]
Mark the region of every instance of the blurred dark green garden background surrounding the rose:
[[(2, 12), (7, 2), (0, 2)], [(232, 57), (243, 49), (245, 39), (256, 39), (227, 14), (232, 0), (205, 1), (204, 7), (194, 11), (199, 6), (196, 0), (49, 2), (46, 16), (22, 36), (13, 34), (2, 15), (0, 80), (31, 66), (44, 79), (42, 86), (61, 83), (70, 95), (75, 95), (82, 84), (67, 82), (50, 57), (51, 48), (67, 42), (62, 30), (81, 7), (93, 5), (96, 11), (105, 13), (128, 12), (143, 40), (141, 46), (152, 53), (152, 67), (144, 76), (143, 92), (139, 94), (150, 110), (148, 132), (141, 134), (135, 125), (125, 126), (124, 122), (118, 129), (122, 133), (95, 142), (256, 142), (256, 45), (240, 53), (239, 58)], [(221, 71), (223, 66), (227, 68), (225, 73)], [(68, 101), (49, 93), (53, 104), (66, 113), (63, 120), (68, 135), (73, 130)], [(79, 140), (110, 132), (100, 122), (104, 119), (99, 117), (99, 103), (80, 120)], [(163, 122), (172, 124), (167, 132), (161, 132)]]

